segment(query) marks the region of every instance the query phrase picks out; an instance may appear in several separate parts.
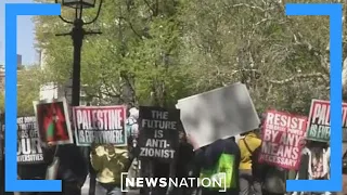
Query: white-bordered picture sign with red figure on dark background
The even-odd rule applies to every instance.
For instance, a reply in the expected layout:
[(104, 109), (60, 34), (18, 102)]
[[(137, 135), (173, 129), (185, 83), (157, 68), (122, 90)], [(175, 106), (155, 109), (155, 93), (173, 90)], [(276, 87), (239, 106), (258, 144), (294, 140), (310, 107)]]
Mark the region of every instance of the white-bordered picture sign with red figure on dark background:
[(42, 143), (74, 143), (66, 99), (34, 101), (33, 104)]

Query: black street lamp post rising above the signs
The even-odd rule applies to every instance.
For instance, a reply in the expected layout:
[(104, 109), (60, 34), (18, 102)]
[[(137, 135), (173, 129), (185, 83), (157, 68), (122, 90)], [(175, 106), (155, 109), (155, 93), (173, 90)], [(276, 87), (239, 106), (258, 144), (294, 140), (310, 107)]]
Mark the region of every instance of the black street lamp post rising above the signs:
[[(55, 0), (55, 3), (59, 3), (59, 0)], [(62, 15), (60, 18), (68, 24), (74, 25), (72, 31), (67, 34), (57, 34), (56, 36), (70, 36), (74, 44), (74, 64), (73, 64), (73, 98), (72, 105), (78, 106), (80, 100), (80, 55), (83, 38), (86, 35), (95, 35), (101, 34), (100, 31), (86, 31), (83, 29), (85, 25), (94, 23), (101, 11), (103, 0), (100, 0), (98, 13), (93, 20), (90, 22), (85, 22), (82, 20), (83, 9), (90, 9), (95, 6), (95, 0), (61, 0), (63, 6), (68, 6), (75, 10), (75, 20), (73, 22), (65, 20)]]

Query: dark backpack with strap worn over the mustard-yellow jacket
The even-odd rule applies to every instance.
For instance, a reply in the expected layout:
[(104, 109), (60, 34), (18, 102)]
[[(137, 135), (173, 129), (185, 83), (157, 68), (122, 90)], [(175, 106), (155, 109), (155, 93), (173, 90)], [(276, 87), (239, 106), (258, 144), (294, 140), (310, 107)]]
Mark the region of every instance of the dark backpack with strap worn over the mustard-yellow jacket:
[(252, 176), (256, 179), (264, 179), (266, 176), (267, 166), (259, 164), (259, 154), (261, 147), (257, 147), (256, 150), (252, 151), (246, 142), (245, 139), (242, 139), (243, 143), (245, 144), (247, 151), (250, 153), (250, 160), (252, 160)]

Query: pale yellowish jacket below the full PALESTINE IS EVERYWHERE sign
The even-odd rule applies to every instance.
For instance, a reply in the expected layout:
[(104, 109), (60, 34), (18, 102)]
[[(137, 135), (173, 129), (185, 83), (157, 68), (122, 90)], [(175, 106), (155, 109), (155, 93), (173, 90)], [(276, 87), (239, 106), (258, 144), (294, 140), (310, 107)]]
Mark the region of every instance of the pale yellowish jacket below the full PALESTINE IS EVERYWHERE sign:
[(130, 165), (127, 147), (92, 146), (90, 161), (97, 171), (100, 183), (114, 183), (120, 186), (121, 172), (127, 172)]

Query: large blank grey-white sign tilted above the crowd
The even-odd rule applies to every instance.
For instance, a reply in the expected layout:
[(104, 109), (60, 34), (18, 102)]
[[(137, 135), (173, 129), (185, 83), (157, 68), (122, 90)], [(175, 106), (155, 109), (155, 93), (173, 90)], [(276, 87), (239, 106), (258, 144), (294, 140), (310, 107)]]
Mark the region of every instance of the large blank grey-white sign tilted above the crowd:
[(243, 83), (179, 100), (176, 107), (181, 110), (185, 131), (195, 138), (200, 147), (257, 129), (260, 123)]

